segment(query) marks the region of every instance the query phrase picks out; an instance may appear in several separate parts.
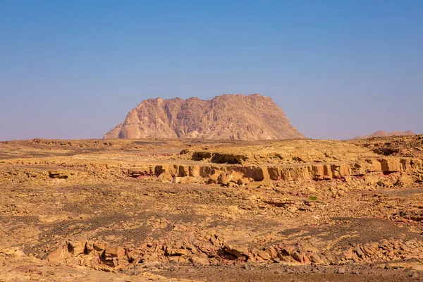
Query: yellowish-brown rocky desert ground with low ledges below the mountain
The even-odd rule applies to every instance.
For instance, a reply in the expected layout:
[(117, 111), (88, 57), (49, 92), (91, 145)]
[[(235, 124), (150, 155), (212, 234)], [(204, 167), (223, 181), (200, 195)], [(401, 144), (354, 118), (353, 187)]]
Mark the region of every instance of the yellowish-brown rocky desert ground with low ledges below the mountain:
[(0, 142), (0, 281), (421, 281), (423, 136)]

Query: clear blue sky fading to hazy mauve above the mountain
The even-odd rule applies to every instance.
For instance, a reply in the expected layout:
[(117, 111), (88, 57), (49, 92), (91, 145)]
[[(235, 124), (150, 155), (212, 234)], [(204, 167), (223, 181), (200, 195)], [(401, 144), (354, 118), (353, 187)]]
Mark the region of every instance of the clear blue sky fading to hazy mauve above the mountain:
[(0, 140), (261, 93), (307, 137), (423, 133), (423, 1), (0, 1)]

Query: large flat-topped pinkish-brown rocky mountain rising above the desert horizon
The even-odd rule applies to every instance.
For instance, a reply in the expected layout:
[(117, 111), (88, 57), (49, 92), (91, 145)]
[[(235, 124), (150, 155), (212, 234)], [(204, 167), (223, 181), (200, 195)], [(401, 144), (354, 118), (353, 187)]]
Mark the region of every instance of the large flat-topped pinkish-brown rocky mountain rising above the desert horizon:
[(305, 138), (282, 109), (261, 94), (225, 94), (211, 100), (146, 99), (111, 129), (110, 138), (276, 140)]

